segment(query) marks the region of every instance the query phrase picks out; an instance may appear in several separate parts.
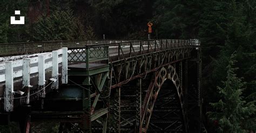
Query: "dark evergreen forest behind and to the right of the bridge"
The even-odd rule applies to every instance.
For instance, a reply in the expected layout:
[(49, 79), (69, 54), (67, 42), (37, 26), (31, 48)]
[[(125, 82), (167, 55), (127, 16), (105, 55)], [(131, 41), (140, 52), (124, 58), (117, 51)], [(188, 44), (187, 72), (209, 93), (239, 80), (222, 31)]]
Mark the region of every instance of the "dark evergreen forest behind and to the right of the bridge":
[[(10, 25), (21, 10), (25, 25)], [(255, 0), (1, 0), (0, 43), (199, 39), (204, 132), (256, 132)]]

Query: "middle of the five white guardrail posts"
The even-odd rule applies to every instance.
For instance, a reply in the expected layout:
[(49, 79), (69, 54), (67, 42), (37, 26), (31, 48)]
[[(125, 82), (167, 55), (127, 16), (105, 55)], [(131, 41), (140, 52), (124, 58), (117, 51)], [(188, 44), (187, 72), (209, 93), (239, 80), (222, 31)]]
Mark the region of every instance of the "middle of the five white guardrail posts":
[(45, 56), (44, 55), (39, 55), (38, 56), (38, 90), (42, 90), (41, 97), (45, 97)]

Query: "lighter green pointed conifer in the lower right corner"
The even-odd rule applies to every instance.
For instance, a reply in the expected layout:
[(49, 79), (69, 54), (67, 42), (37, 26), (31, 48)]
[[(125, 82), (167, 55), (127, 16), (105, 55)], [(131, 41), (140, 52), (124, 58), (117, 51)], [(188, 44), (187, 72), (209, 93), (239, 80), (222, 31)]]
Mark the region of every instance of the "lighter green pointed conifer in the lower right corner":
[(248, 102), (243, 99), (242, 91), (245, 90), (245, 82), (238, 78), (233, 68), (234, 54), (231, 55), (227, 65), (227, 76), (223, 87), (217, 87), (219, 90), (220, 100), (210, 105), (215, 109), (214, 112), (208, 112), (211, 120), (219, 122), (218, 132), (248, 132), (255, 131), (255, 117), (252, 119), (256, 108), (254, 102)]

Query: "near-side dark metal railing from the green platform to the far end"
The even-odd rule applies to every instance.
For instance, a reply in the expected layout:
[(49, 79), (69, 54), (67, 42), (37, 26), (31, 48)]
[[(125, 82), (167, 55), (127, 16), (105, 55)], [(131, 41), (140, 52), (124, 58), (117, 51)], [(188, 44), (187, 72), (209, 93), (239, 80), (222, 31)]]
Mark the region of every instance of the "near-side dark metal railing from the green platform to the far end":
[[(199, 47), (198, 39), (190, 40), (143, 40), (108, 43), (102, 45), (92, 45), (95, 47), (108, 46), (110, 56), (117, 56), (116, 60), (125, 59), (127, 55), (136, 56), (139, 54), (152, 53), (165, 49), (182, 48), (182, 47)], [(128, 57), (129, 57), (128, 56)]]

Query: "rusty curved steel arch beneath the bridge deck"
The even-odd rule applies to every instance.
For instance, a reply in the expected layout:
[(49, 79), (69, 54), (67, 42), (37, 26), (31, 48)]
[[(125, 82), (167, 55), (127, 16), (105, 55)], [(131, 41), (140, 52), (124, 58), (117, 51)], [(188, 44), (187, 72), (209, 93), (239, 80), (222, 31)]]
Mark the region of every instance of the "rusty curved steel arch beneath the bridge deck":
[(144, 104), (142, 107), (142, 119), (140, 121), (139, 132), (147, 131), (147, 128), (149, 127), (150, 119), (152, 116), (154, 104), (157, 100), (161, 87), (163, 86), (165, 80), (167, 79), (170, 79), (173, 82), (174, 86), (176, 87), (180, 107), (183, 114), (185, 132), (187, 131), (187, 128), (188, 128), (187, 117), (186, 117), (182, 85), (179, 82), (179, 77), (175, 67), (173, 67), (172, 65), (167, 65), (166, 67), (163, 67), (156, 72), (156, 76), (152, 78), (152, 82), (150, 83), (149, 88), (147, 89), (147, 93), (144, 99)]

